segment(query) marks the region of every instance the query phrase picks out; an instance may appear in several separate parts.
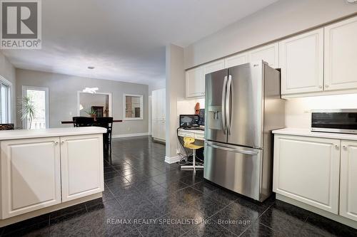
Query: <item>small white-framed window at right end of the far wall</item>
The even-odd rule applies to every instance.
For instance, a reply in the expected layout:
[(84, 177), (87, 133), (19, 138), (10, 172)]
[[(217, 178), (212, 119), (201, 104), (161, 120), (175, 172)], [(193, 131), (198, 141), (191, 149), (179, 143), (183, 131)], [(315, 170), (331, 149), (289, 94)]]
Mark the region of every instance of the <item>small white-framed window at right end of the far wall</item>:
[(143, 96), (124, 94), (124, 120), (143, 120)]

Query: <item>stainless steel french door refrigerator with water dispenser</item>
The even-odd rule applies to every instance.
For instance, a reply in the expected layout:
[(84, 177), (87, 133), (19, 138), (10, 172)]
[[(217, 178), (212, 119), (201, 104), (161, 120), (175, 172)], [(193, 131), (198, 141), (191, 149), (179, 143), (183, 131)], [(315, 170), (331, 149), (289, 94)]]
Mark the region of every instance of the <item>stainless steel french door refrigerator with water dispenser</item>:
[(205, 179), (258, 201), (271, 195), (271, 130), (284, 127), (280, 81), (263, 61), (206, 75)]

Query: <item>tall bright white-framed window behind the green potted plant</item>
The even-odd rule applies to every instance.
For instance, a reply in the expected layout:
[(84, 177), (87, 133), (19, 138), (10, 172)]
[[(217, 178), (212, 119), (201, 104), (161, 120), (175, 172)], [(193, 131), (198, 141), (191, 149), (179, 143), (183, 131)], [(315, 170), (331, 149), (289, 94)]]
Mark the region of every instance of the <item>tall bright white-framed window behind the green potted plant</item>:
[(34, 107), (34, 118), (30, 120), (29, 117), (26, 117), (24, 120), (22, 120), (23, 127), (31, 130), (48, 128), (49, 88), (23, 86), (22, 97), (29, 98), (31, 105)]

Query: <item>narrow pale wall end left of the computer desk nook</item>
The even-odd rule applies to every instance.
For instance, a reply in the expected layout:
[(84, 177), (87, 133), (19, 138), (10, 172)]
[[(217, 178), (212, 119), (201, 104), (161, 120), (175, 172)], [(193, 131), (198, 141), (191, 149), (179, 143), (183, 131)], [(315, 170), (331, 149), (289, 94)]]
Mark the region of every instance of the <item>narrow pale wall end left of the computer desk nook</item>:
[(183, 48), (166, 46), (166, 162), (177, 159), (177, 101), (185, 97)]

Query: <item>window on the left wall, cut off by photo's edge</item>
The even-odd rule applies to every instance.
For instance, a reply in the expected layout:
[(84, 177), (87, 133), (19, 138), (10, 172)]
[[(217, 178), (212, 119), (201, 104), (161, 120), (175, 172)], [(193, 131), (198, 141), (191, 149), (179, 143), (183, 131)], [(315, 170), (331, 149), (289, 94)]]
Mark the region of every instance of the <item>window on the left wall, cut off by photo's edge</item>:
[(0, 77), (0, 123), (11, 122), (11, 83)]

